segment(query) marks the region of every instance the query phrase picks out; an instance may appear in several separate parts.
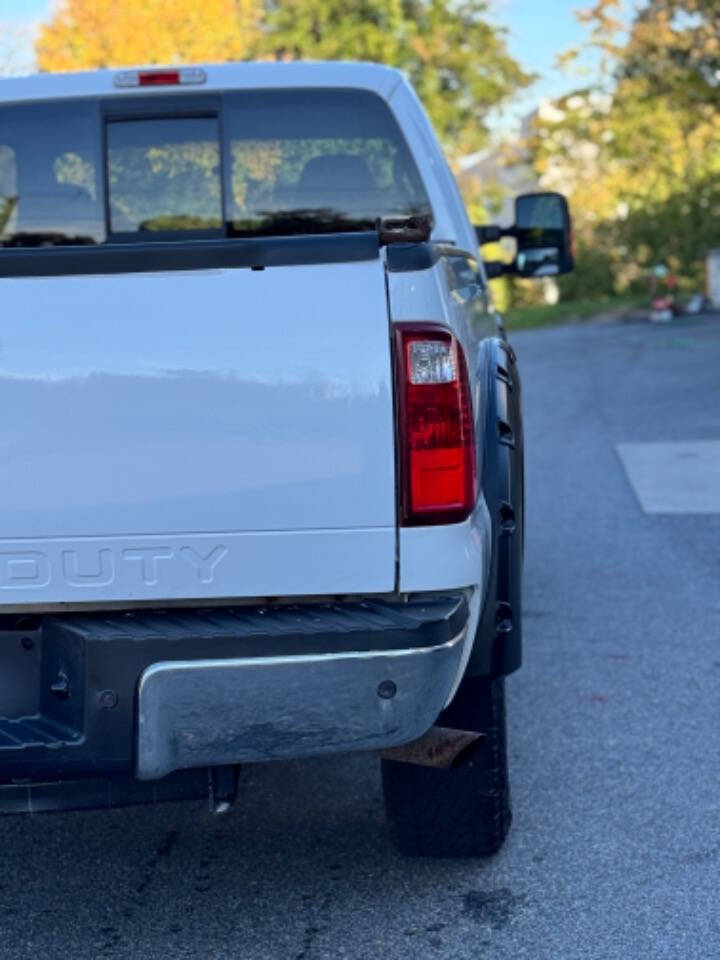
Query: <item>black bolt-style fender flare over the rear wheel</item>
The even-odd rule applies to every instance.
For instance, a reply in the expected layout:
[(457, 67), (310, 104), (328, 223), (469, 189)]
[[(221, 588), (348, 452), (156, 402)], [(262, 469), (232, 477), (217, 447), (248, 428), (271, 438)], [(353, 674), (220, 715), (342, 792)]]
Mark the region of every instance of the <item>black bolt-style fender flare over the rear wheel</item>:
[(478, 355), (476, 442), (491, 521), (490, 569), (467, 676), (506, 676), (522, 663), (525, 456), (515, 351), (497, 337)]

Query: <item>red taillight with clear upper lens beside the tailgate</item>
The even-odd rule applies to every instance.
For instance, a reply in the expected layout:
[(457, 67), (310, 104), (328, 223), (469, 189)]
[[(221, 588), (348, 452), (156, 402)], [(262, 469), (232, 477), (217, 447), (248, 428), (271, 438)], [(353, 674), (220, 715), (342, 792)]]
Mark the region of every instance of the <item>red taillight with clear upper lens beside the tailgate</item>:
[(400, 521), (457, 523), (475, 506), (475, 431), (467, 364), (440, 327), (396, 327)]

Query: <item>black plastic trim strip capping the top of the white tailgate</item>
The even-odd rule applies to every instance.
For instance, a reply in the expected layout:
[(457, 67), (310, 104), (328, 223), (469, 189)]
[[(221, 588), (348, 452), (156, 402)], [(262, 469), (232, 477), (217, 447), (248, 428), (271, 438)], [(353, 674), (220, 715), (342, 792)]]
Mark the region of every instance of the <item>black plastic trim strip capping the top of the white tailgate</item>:
[(356, 263), (379, 255), (378, 235), (107, 243), (78, 247), (0, 249), (0, 277), (63, 277), (166, 270), (213, 270)]

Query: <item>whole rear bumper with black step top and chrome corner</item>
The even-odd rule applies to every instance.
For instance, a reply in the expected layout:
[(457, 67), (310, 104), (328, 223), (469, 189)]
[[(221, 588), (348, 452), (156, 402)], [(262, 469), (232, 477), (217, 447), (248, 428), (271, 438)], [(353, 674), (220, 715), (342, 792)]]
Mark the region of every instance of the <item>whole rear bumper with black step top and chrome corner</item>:
[[(3, 629), (0, 812), (61, 808), (63, 784), (82, 780), (99, 805), (116, 804), (142, 792), (137, 776), (411, 740), (462, 670), (468, 593), (53, 615)], [(118, 786), (128, 778), (129, 792)], [(17, 784), (28, 796), (10, 791), (4, 804)]]

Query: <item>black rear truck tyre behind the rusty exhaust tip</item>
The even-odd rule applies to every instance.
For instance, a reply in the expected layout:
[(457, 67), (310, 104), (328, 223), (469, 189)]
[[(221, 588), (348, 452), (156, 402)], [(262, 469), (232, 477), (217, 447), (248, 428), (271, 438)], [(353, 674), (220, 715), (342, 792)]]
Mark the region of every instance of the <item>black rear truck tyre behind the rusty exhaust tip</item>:
[(484, 733), (471, 759), (451, 770), (382, 761), (390, 831), (406, 856), (485, 857), (510, 829), (503, 677), (468, 677), (438, 719)]

